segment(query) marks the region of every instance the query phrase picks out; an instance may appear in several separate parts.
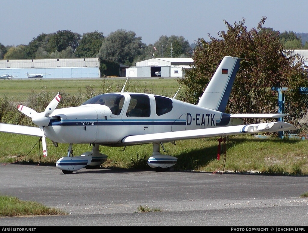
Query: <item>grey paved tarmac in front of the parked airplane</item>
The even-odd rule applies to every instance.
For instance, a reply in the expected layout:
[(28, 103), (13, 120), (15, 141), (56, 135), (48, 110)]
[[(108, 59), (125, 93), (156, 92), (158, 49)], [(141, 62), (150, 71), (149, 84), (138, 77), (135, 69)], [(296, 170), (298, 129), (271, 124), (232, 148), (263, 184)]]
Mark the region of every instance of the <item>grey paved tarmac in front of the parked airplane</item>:
[[(69, 213), (2, 217), (0, 226), (258, 226), (276, 231), (308, 226), (308, 198), (300, 197), (307, 191), (308, 177), (118, 169), (65, 175), (54, 166), (0, 164), (1, 195)], [(140, 212), (140, 205), (160, 211)]]

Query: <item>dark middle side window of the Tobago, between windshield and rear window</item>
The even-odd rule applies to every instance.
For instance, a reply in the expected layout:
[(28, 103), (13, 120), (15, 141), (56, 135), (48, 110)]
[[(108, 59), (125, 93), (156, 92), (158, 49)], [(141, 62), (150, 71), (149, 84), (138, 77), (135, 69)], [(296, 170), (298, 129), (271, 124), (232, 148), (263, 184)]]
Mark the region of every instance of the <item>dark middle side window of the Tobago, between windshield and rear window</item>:
[(144, 94), (130, 94), (131, 101), (126, 112), (128, 117), (149, 117), (151, 115), (150, 99)]

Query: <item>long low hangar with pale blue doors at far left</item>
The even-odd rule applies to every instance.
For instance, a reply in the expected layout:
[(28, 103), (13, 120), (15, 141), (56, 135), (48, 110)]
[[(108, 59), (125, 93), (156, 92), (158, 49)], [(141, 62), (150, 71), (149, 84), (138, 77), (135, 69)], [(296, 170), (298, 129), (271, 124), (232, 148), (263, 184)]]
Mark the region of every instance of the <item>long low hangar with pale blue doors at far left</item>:
[(44, 78), (99, 78), (99, 58), (55, 58), (0, 60), (0, 76), (18, 75), (28, 78), (29, 74), (47, 74)]

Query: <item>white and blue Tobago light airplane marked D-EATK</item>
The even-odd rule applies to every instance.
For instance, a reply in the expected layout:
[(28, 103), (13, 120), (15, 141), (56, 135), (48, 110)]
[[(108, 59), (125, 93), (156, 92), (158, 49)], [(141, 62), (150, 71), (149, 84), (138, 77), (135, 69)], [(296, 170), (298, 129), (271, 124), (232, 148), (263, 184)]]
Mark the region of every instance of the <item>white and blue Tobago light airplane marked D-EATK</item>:
[[(286, 114), (224, 112), (240, 60), (231, 56), (223, 58), (197, 105), (176, 100), (175, 96), (124, 92), (124, 85), (119, 93), (100, 94), (77, 107), (55, 109), (60, 94), (41, 113), (19, 105), (18, 110), (31, 117), (38, 127), (0, 123), (0, 131), (42, 137), (44, 156), (47, 156), (45, 137), (55, 146), (69, 144), (67, 156), (56, 162), (56, 167), (67, 174), (103, 164), (107, 155), (100, 153), (100, 145), (153, 144), (148, 165), (154, 169), (168, 169), (176, 164), (177, 158), (160, 153), (163, 143), (294, 130), (295, 127), (286, 122), (244, 125), (241, 119), (280, 118)], [(73, 144), (92, 144), (92, 151), (73, 156)]]

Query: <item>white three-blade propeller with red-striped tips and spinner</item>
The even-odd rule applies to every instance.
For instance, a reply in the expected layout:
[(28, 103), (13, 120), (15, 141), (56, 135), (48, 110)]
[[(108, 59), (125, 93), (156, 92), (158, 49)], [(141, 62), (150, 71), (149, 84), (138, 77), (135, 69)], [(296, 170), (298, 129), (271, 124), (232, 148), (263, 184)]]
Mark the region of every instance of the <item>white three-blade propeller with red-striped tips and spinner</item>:
[(43, 144), (43, 156), (47, 156), (47, 146), (46, 146), (46, 138), (44, 133), (44, 127), (49, 125), (50, 118), (49, 115), (55, 110), (55, 108), (58, 106), (59, 102), (61, 100), (60, 93), (58, 93), (55, 98), (48, 104), (48, 106), (45, 108), (43, 112), (37, 113), (35, 110), (23, 106), (18, 105), (17, 109), (25, 114), (28, 117), (32, 118), (32, 122), (39, 126), (39, 128), (42, 131), (42, 144)]

